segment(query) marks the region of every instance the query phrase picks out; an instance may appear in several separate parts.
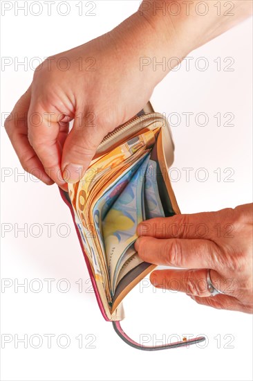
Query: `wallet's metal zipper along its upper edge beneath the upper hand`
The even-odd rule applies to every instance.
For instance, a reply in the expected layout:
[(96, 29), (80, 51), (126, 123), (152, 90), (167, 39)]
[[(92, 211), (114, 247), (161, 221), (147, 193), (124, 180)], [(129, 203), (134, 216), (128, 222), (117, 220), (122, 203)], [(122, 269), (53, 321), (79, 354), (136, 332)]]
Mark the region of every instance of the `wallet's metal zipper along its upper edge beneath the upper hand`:
[[(159, 126), (158, 122), (162, 124)], [(106, 149), (109, 149), (111, 143), (114, 145), (122, 141), (124, 138), (130, 138), (133, 134), (143, 130), (145, 127), (148, 127), (152, 123), (153, 126), (151, 130), (155, 129), (156, 127), (162, 127), (162, 125), (165, 124), (162, 114), (154, 112), (150, 114), (144, 114), (142, 116), (136, 116), (131, 121), (124, 123), (120, 127), (107, 134), (98, 146), (97, 153), (104, 152)], [(131, 134), (129, 134), (130, 131)]]

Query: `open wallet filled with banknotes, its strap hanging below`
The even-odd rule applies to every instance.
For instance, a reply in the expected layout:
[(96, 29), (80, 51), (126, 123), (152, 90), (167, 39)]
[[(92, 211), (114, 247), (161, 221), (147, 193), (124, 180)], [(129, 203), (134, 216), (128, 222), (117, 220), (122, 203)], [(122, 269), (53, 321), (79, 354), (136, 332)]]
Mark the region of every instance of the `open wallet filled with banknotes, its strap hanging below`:
[(174, 143), (167, 120), (148, 103), (130, 121), (105, 136), (82, 179), (68, 184), (68, 192), (60, 189), (71, 209), (104, 319), (112, 321), (124, 342), (144, 351), (205, 340), (184, 338), (143, 346), (120, 325), (124, 296), (156, 267), (143, 262), (134, 249), (138, 224), (180, 213), (168, 174), (173, 160)]

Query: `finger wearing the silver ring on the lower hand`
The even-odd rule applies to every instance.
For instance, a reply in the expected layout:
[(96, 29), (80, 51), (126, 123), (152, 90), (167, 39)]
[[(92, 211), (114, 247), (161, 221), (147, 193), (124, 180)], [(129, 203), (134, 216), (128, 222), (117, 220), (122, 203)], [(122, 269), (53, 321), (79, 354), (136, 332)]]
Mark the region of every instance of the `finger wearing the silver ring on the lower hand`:
[[(158, 288), (185, 292), (187, 294), (203, 298), (212, 296), (212, 293), (209, 291), (207, 284), (207, 271), (207, 269), (155, 270), (151, 273), (150, 281), (155, 287)], [(221, 278), (217, 272), (212, 271), (212, 279), (213, 278), (216, 278), (216, 283), (214, 285), (216, 290), (221, 292), (228, 290), (226, 281), (223, 280), (223, 278)], [(229, 295), (233, 294), (234, 289), (230, 287)]]

